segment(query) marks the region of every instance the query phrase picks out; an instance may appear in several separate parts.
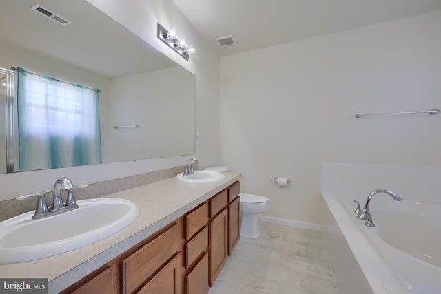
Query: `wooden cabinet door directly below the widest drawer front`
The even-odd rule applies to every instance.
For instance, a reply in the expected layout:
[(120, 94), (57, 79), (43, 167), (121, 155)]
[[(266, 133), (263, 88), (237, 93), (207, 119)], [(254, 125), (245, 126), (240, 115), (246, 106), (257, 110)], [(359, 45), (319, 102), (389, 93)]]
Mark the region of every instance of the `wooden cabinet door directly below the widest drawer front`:
[(181, 294), (182, 293), (181, 253), (177, 253), (145, 286), (136, 294)]

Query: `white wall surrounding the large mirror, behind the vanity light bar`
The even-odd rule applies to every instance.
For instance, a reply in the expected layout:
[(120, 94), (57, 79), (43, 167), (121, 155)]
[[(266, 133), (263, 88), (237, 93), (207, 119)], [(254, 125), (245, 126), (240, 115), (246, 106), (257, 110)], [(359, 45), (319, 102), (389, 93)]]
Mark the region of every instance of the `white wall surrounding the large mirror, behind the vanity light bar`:
[[(220, 70), (219, 57), (212, 52), (212, 48), (170, 0), (126, 0), (123, 3), (119, 0), (90, 0), (90, 3), (196, 74), (196, 132), (200, 134), (200, 143), (196, 145), (196, 157), (201, 161), (202, 167), (218, 163), (220, 158), (218, 145)], [(156, 39), (156, 23), (161, 23), (165, 28), (176, 28), (179, 34), (186, 37), (189, 45), (194, 45), (196, 52), (190, 57), (189, 62)], [(98, 182), (176, 167), (185, 164), (191, 157), (175, 156), (90, 167), (1, 174), (0, 200), (25, 193), (49, 191), (59, 176), (68, 176), (76, 184)]]

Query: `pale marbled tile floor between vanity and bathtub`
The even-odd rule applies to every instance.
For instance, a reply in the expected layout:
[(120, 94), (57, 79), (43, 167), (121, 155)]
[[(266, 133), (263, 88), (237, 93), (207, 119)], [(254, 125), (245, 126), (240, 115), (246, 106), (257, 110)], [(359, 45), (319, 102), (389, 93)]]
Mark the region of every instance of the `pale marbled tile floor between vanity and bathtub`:
[(319, 231), (260, 222), (241, 238), (209, 294), (337, 294)]

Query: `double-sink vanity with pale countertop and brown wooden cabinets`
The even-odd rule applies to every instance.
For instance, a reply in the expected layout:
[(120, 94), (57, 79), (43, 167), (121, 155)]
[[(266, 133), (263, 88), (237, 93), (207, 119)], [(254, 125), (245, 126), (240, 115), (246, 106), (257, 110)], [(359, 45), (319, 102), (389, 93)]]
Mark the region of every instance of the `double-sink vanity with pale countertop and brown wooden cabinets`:
[[(9, 258), (1, 276), (48, 278), (49, 293), (207, 293), (240, 238), (239, 179), (195, 171), (79, 200), (78, 209), (49, 218), (25, 213), (26, 225), (0, 235), (0, 255)], [(58, 249), (61, 239), (76, 243)], [(46, 240), (46, 255), (11, 251)]]

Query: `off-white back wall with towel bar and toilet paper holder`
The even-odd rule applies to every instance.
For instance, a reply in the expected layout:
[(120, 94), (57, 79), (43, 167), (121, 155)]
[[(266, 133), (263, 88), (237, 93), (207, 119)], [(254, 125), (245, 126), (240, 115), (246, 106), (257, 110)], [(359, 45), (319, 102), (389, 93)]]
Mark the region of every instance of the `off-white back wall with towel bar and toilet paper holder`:
[(433, 12), (223, 57), (223, 164), (267, 216), (316, 223), (321, 162), (441, 165), (441, 114), (355, 118), (440, 109), (440, 52)]

